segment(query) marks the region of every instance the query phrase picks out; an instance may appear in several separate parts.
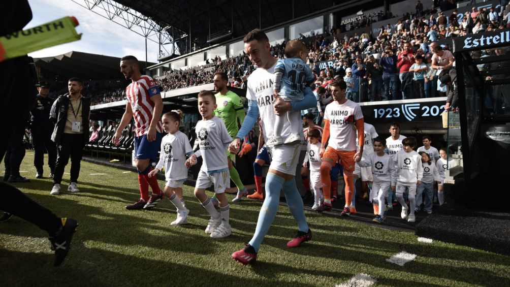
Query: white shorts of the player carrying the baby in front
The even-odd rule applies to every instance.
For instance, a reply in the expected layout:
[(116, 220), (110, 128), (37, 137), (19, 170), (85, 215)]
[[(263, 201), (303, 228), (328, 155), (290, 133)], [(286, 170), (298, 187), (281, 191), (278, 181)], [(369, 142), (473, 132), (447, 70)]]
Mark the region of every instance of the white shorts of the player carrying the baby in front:
[(300, 151), (301, 145), (299, 144), (268, 147), (267, 152), (271, 159), (269, 169), (295, 176)]

